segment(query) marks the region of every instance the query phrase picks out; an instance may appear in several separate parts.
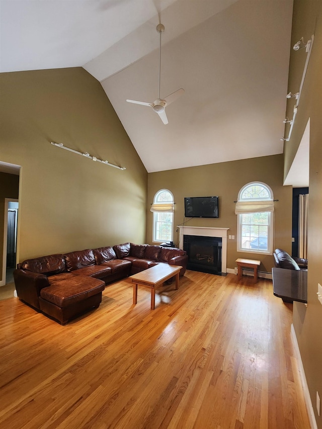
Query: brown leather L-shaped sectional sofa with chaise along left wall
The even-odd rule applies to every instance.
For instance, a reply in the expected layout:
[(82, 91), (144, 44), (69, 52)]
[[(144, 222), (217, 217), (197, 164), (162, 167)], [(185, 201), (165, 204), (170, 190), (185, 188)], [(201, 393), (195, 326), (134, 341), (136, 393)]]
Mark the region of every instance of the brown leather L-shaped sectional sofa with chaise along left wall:
[(19, 299), (65, 324), (99, 307), (106, 284), (157, 264), (182, 266), (183, 276), (187, 260), (181, 249), (124, 243), (26, 260), (14, 280)]

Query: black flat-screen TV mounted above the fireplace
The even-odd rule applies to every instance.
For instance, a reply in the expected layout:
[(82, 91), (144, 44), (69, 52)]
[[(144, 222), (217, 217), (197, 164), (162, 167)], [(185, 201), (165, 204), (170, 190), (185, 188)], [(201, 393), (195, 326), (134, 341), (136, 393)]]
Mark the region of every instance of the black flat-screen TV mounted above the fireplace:
[(218, 218), (218, 197), (185, 198), (185, 217)]

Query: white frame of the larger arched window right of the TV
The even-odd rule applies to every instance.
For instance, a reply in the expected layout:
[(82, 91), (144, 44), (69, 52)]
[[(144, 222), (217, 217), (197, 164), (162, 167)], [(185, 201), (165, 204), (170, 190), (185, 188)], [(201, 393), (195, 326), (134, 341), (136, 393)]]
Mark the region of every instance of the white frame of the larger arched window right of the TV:
[[(243, 193), (247, 188), (250, 188), (251, 186), (258, 185), (265, 188), (269, 194), (269, 197), (265, 198), (241, 198)], [(239, 193), (238, 193), (238, 199), (237, 201), (269, 201), (274, 200), (273, 191), (272, 189), (263, 182), (250, 182), (246, 185), (244, 185)], [(253, 212), (250, 214), (256, 214), (257, 212)], [(274, 225), (274, 212), (265, 212), (268, 215), (268, 222), (267, 222), (267, 250), (263, 249), (251, 249), (251, 248), (244, 248), (241, 246), (242, 242), (242, 231), (243, 231), (243, 214), (237, 214), (237, 252), (243, 252), (243, 253), (256, 253), (256, 254), (273, 254), (273, 225)]]

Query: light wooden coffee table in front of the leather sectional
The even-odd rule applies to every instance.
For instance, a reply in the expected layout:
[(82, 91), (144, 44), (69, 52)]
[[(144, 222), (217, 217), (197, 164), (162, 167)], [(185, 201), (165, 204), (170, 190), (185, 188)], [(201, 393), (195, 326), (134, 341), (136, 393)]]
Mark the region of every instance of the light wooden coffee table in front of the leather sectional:
[(179, 265), (159, 264), (140, 273), (130, 276), (133, 283), (133, 304), (137, 303), (137, 285), (151, 289), (151, 310), (155, 308), (155, 288), (162, 285), (171, 277), (176, 277), (176, 290), (179, 289), (179, 273), (182, 269)]

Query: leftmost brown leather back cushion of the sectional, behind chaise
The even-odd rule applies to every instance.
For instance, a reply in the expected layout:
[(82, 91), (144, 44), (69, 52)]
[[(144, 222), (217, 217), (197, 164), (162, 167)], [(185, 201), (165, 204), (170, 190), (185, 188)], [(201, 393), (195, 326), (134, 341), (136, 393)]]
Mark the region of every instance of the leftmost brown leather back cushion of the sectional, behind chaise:
[(20, 265), (23, 270), (45, 274), (46, 276), (52, 276), (53, 274), (63, 273), (66, 271), (65, 260), (63, 255), (60, 253), (41, 256), (41, 258), (28, 259)]

